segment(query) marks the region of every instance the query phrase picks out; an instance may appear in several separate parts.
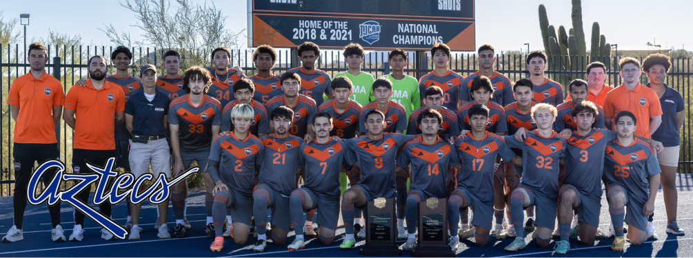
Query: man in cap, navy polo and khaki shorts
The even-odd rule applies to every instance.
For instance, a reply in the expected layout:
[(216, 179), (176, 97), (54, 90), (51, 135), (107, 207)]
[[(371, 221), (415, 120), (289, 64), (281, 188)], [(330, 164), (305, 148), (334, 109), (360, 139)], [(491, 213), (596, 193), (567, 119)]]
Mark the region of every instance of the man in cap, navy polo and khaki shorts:
[[(168, 105), (170, 99), (166, 93), (157, 90), (157, 68), (152, 64), (142, 66), (140, 70), (142, 87), (128, 93), (128, 102), (125, 104), (125, 123), (128, 131), (132, 133), (130, 140), (130, 169), (136, 178), (139, 178), (149, 170), (157, 177), (165, 174), (170, 177), (170, 155), (168, 154), (168, 142), (166, 130), (168, 129)], [(141, 204), (133, 204), (132, 229), (130, 240), (139, 240), (139, 212)], [(160, 239), (169, 239), (166, 216), (168, 215), (168, 200), (159, 204), (159, 234)]]

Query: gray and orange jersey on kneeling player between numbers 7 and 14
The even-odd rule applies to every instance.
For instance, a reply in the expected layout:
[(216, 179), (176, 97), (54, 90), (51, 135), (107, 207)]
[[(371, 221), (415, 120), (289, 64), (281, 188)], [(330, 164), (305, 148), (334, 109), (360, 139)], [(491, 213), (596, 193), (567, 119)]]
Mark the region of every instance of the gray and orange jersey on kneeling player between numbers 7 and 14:
[(376, 198), (394, 197), (394, 160), (397, 158), (397, 149), (410, 140), (414, 140), (414, 136), (401, 133), (383, 133), (378, 140), (372, 140), (368, 136), (344, 139), (355, 157), (349, 165), (353, 165), (354, 161), (360, 165), (361, 180), (358, 181), (358, 185)]

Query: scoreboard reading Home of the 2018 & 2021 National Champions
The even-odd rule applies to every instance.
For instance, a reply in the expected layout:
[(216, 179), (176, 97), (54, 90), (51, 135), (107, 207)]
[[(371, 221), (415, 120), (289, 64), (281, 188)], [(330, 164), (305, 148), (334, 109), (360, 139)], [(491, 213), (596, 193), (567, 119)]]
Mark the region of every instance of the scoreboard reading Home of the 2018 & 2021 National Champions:
[(475, 48), (474, 0), (247, 0), (248, 46), (314, 42), (369, 50)]

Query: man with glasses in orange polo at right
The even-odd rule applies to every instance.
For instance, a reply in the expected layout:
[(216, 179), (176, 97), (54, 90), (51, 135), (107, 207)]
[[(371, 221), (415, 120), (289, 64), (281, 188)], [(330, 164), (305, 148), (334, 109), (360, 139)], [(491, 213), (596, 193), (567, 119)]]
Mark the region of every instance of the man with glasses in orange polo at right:
[(609, 92), (604, 100), (606, 128), (612, 128), (613, 118), (618, 112), (631, 111), (638, 118), (635, 134), (651, 138), (652, 133), (662, 124), (662, 106), (657, 93), (638, 81), (642, 74), (638, 59), (625, 57), (621, 59), (619, 66), (623, 84)]

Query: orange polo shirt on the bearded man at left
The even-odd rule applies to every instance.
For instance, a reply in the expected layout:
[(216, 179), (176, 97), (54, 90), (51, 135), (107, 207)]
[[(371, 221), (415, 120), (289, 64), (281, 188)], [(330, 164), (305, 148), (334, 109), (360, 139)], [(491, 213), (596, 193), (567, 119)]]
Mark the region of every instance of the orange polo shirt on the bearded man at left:
[(75, 111), (73, 149), (116, 149), (116, 112), (125, 111), (121, 87), (105, 82), (96, 90), (87, 80), (87, 86), (72, 86), (67, 92), (65, 108)]

